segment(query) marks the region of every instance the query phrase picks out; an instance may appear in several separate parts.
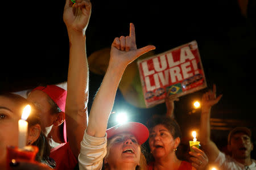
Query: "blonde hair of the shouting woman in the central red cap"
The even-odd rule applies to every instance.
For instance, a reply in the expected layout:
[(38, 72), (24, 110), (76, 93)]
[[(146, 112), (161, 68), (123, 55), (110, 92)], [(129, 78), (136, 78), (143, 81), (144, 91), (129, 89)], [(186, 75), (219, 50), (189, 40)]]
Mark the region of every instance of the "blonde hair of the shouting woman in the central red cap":
[[(112, 144), (113, 144), (112, 139), (113, 138), (108, 139), (107, 154), (106, 154), (105, 158), (108, 158), (108, 156), (109, 156), (109, 151), (110, 151), (110, 148), (112, 147)], [(146, 161), (146, 158), (145, 158), (144, 154), (142, 153), (143, 147), (142, 146), (140, 146), (140, 147), (141, 147), (141, 155), (140, 155), (140, 158), (139, 158), (139, 165), (137, 165), (135, 170), (147, 170), (147, 161)], [(110, 170), (110, 167), (109, 167), (108, 163), (106, 163), (106, 164), (104, 163), (104, 169), (105, 170)]]

